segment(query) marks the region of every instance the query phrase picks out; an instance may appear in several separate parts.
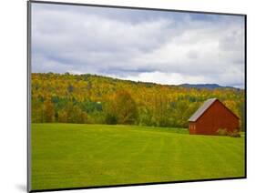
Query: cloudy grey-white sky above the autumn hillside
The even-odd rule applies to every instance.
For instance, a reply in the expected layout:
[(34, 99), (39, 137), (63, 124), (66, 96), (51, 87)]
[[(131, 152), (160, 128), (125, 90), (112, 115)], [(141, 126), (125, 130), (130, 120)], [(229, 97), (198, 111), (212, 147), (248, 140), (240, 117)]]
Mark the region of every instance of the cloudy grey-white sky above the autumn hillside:
[(244, 20), (34, 3), (32, 71), (244, 87)]

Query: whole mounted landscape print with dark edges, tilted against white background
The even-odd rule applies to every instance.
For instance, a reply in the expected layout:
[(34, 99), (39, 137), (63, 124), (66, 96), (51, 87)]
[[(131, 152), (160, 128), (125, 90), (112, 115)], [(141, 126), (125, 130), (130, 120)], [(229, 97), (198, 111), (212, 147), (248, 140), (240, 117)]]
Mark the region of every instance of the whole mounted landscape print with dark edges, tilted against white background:
[(29, 191), (246, 178), (246, 15), (28, 2)]

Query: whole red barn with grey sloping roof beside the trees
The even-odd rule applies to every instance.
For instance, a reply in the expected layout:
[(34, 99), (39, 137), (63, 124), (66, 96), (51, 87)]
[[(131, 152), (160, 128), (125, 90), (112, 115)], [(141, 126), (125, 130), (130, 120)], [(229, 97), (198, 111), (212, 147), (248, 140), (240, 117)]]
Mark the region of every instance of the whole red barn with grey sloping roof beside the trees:
[(239, 117), (217, 98), (210, 98), (189, 117), (189, 134), (216, 135), (219, 128), (239, 130)]

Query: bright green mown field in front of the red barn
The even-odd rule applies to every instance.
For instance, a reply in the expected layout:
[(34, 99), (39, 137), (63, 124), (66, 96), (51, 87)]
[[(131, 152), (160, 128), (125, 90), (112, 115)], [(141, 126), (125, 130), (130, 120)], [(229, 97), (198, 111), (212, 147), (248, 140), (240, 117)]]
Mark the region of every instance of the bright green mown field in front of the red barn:
[(32, 124), (32, 189), (244, 176), (244, 137), (186, 129)]

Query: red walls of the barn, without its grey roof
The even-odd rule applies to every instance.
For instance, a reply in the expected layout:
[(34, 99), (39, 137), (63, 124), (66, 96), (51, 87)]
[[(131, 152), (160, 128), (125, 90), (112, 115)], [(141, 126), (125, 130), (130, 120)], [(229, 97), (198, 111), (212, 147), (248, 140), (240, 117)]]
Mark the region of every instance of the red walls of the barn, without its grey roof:
[(196, 134), (216, 135), (219, 128), (227, 128), (228, 131), (238, 129), (239, 119), (217, 100), (195, 122), (195, 125)]

